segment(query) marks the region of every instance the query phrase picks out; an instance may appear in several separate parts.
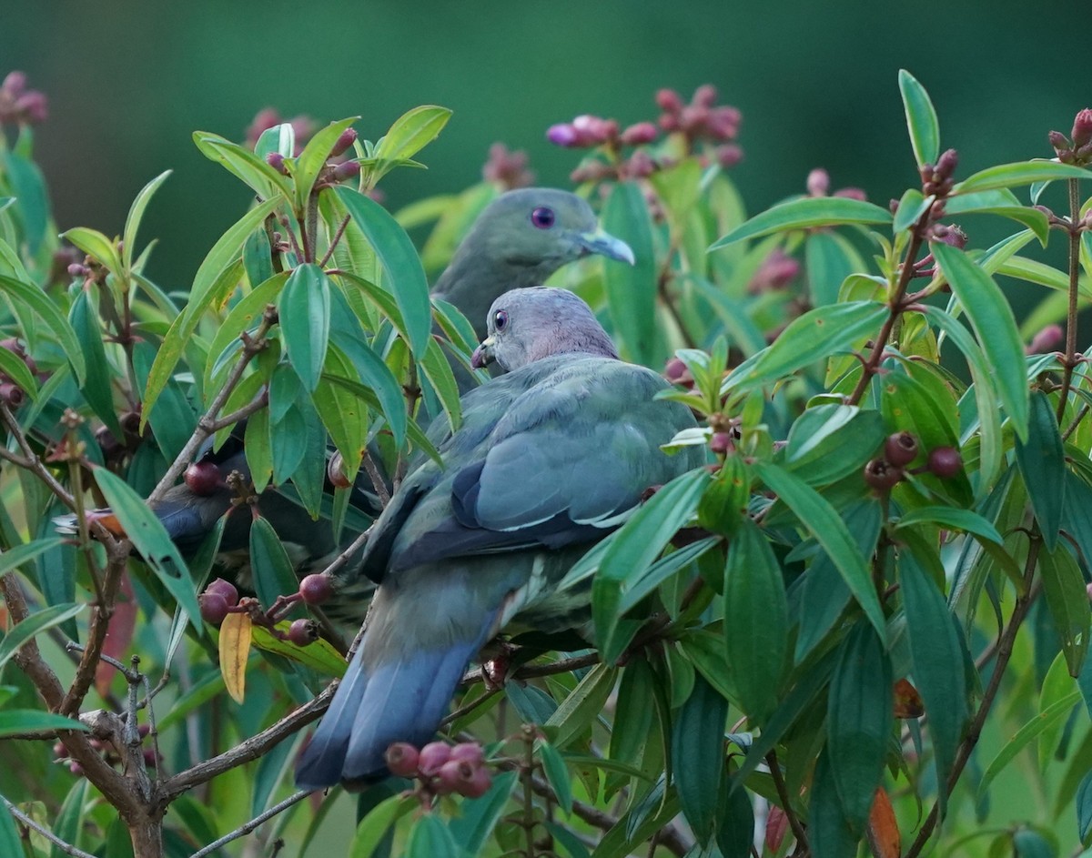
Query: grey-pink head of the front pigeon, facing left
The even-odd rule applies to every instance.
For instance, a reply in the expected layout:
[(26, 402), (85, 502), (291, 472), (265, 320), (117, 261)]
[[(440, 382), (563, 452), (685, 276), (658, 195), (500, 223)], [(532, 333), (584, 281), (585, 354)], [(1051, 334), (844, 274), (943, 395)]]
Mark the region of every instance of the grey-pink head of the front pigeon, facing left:
[(471, 358), (475, 369), (496, 362), (506, 372), (569, 353), (617, 358), (583, 299), (567, 289), (533, 286), (501, 295), (486, 318), (487, 336)]

